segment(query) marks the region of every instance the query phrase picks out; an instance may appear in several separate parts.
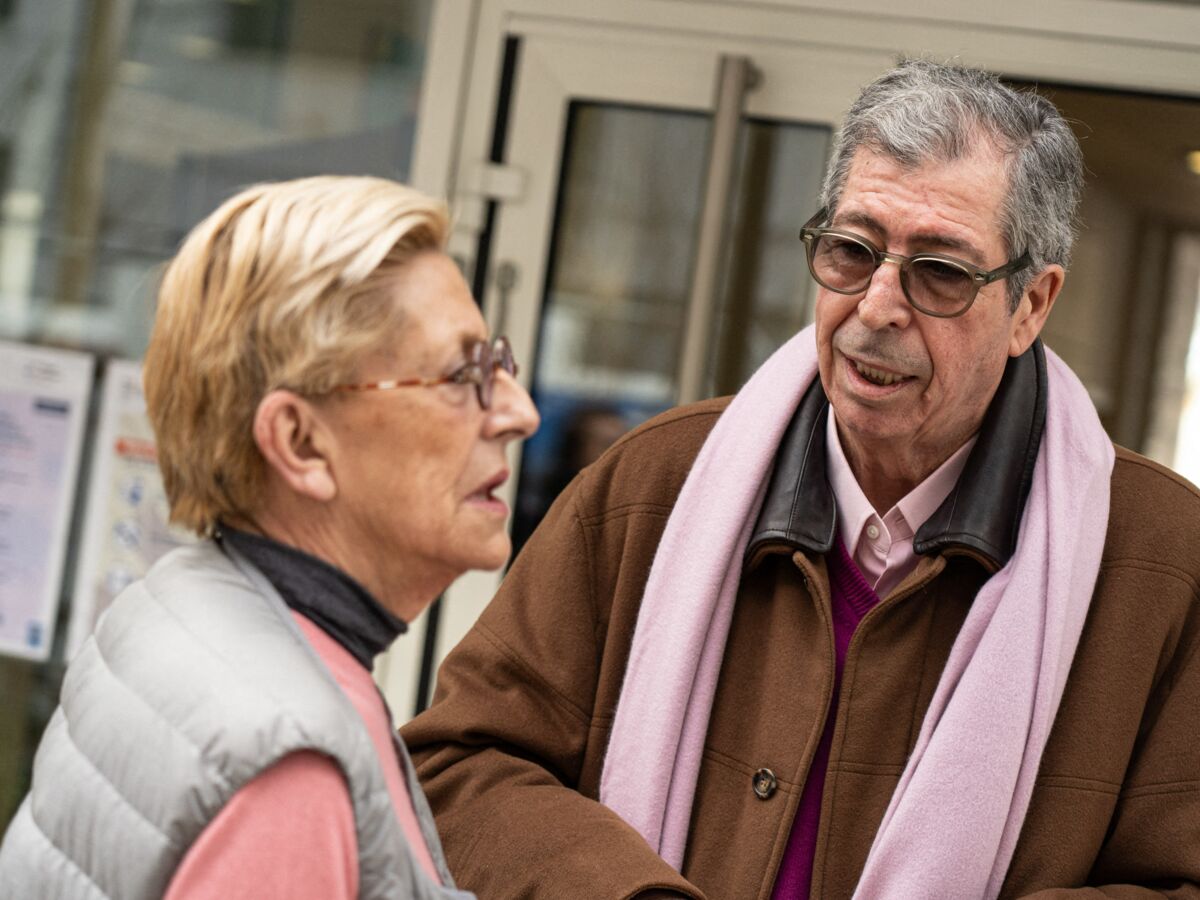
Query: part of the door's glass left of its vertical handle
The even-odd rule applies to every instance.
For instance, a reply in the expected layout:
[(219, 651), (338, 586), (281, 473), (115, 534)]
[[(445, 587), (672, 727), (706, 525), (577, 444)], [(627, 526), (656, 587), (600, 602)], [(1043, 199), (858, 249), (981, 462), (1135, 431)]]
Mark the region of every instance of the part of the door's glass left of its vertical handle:
[(707, 116), (576, 102), (569, 114), (514, 545), (568, 481), (676, 394)]

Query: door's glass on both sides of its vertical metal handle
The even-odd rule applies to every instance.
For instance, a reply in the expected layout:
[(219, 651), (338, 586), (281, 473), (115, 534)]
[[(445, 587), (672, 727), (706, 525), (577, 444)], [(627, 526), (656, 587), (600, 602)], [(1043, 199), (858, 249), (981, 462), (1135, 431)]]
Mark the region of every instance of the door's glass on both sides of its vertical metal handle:
[[(580, 468), (676, 401), (709, 122), (571, 107), (533, 378), (542, 426), (522, 455), (517, 547)], [(809, 318), (798, 234), (828, 145), (827, 127), (743, 126), (709, 395), (736, 391)]]

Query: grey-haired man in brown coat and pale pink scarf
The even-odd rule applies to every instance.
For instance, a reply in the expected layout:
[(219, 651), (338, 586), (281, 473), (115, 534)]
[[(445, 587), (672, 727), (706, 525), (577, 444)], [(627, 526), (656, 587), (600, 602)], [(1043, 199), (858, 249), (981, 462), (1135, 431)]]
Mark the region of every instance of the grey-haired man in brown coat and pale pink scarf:
[(1200, 496), (1038, 341), (1057, 110), (908, 61), (816, 324), (577, 478), (406, 730), (486, 898), (1200, 896)]

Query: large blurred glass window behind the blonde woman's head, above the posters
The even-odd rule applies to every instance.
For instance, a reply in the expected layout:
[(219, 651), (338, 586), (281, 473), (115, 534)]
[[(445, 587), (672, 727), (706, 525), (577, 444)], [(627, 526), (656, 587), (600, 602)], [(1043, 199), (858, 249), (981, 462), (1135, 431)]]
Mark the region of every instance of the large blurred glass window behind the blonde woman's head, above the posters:
[(238, 188), (407, 175), (430, 0), (90, 10), (59, 91), (32, 89), (42, 138), (11, 132), (5, 230), (25, 230), (0, 253), (26, 277), (5, 286), (0, 334), (139, 356), (158, 265)]

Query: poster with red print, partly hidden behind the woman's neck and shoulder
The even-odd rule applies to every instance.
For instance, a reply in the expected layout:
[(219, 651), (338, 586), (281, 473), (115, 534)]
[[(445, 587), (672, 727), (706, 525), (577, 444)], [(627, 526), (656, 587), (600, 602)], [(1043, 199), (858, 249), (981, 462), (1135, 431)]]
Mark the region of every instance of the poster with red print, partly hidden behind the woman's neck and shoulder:
[(191, 540), (182, 529), (167, 524), (168, 514), (142, 395), (142, 366), (110, 360), (91, 458), (68, 660), (125, 586), (145, 575), (168, 550)]

